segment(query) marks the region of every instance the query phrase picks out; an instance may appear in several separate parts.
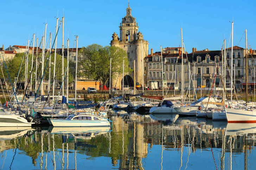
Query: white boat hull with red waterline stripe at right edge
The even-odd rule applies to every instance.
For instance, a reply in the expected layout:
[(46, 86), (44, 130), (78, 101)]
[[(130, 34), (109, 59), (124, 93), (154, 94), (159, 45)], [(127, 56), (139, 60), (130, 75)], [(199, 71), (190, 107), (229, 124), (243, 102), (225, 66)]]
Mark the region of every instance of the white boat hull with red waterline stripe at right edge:
[(228, 123), (256, 123), (256, 111), (225, 108)]

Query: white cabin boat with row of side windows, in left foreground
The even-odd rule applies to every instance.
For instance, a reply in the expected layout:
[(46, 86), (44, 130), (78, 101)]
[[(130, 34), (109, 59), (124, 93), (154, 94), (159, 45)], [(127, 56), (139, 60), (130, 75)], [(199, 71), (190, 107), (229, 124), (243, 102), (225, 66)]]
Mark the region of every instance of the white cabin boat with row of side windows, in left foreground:
[(54, 127), (96, 127), (112, 125), (112, 121), (107, 118), (89, 114), (72, 114), (66, 119), (50, 118), (48, 120)]

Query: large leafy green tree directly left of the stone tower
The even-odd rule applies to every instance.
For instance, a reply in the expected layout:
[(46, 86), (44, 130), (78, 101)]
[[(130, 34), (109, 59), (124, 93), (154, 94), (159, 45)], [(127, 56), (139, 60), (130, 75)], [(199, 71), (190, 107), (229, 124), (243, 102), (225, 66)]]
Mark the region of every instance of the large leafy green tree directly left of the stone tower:
[(101, 46), (92, 44), (82, 48), (78, 55), (79, 76), (84, 76), (93, 80), (100, 80), (103, 85), (109, 79), (111, 60), (111, 74), (118, 76), (122, 73), (124, 60), (124, 72), (131, 72), (129, 61), (125, 50), (115, 46)]

